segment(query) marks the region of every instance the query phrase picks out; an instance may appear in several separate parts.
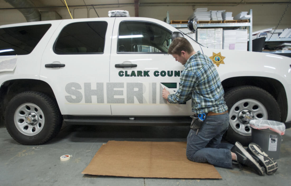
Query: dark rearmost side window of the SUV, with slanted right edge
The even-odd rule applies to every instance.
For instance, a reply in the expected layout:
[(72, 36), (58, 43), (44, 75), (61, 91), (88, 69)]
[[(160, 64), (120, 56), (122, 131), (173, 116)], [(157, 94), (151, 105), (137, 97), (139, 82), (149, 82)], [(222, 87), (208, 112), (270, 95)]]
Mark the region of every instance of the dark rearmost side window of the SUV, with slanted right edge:
[(26, 55), (33, 51), (51, 24), (0, 29), (0, 56)]

